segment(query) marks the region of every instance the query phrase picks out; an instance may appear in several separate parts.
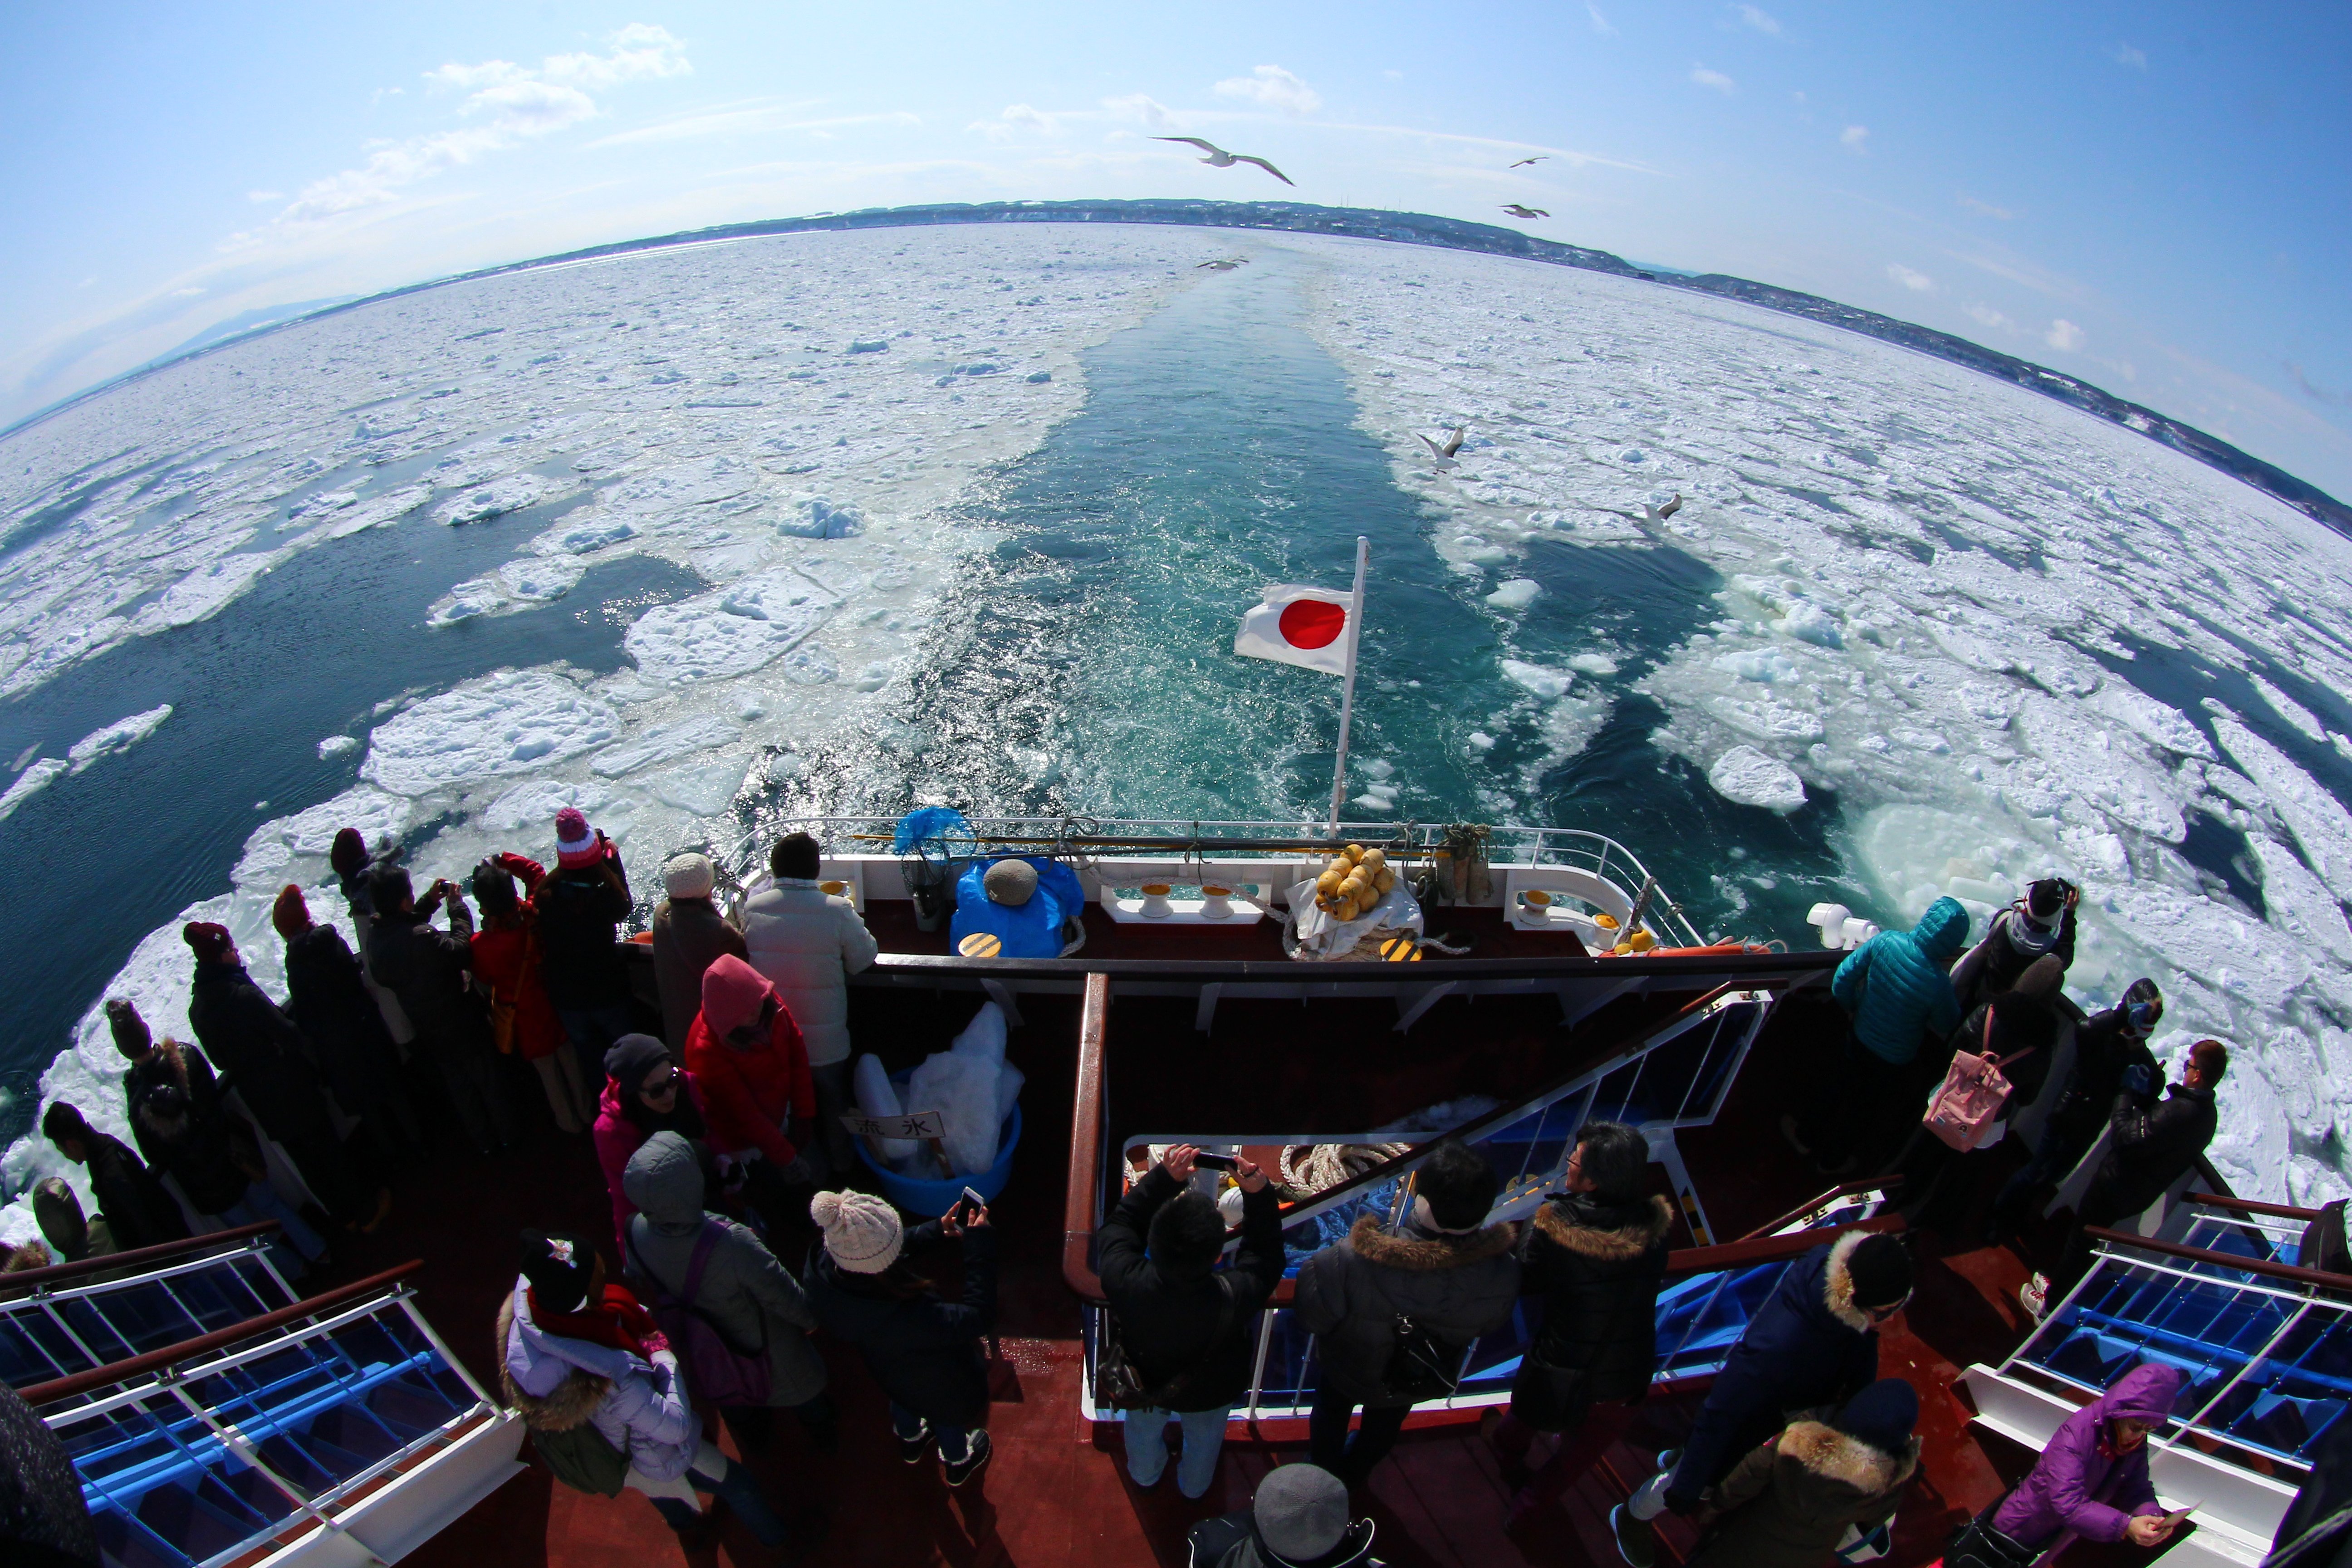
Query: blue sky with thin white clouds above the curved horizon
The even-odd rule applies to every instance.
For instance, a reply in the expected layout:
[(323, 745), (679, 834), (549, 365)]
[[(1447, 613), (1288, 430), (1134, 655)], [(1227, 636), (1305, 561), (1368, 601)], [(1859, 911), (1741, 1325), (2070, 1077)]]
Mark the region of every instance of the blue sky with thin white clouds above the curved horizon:
[(2343, 5), (31, 0), (0, 423), (249, 310), (581, 244), (1261, 197), (1806, 289), (2352, 496), (2347, 73)]

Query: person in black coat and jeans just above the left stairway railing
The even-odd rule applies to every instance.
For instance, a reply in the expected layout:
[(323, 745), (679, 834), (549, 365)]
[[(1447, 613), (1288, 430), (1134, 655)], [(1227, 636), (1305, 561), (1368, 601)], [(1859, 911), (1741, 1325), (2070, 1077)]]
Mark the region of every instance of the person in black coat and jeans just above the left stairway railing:
[(191, 1211), (219, 1225), (278, 1220), (294, 1251), (325, 1267), (327, 1244), (270, 1187), (261, 1143), (221, 1100), (205, 1053), (176, 1039), (155, 1044), (139, 1009), (122, 997), (108, 999), (106, 1025), (115, 1051), (129, 1060), (122, 1100), (148, 1166), (179, 1185)]

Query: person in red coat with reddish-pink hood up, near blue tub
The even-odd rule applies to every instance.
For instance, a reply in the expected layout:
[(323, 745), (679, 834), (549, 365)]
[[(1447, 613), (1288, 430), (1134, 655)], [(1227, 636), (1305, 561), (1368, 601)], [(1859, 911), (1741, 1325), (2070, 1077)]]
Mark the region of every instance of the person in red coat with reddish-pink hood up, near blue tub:
[(809, 1048), (776, 987), (731, 952), (703, 971), (703, 1011), (687, 1030), (687, 1072), (703, 1095), (713, 1152), (743, 1171), (746, 1201), (769, 1225), (804, 1206), (809, 1185), (823, 1175), (814, 1164)]

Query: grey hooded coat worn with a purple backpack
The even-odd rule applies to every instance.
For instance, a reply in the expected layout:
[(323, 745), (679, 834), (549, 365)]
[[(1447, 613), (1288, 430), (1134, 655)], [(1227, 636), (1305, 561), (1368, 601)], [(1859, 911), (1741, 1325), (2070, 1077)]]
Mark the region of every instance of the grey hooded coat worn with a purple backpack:
[(724, 1234), (703, 1265), (701, 1293), (687, 1305), (736, 1349), (767, 1345), (771, 1406), (807, 1403), (826, 1392), (826, 1361), (807, 1333), (816, 1328), (807, 1293), (748, 1227), (703, 1213), (703, 1168), (694, 1145), (677, 1133), (654, 1133), (628, 1157), (621, 1192), (637, 1206), (628, 1222), (633, 1274), (682, 1300), (694, 1241), (703, 1220), (715, 1220)]

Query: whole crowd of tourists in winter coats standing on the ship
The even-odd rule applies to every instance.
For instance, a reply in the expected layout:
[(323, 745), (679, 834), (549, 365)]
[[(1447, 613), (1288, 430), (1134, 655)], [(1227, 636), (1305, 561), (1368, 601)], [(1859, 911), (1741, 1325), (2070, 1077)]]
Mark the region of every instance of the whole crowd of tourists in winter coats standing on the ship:
[[(520, 1081), (536, 1079), (553, 1124), (593, 1138), (612, 1201), (609, 1237), (524, 1232), (496, 1316), (503, 1394), (564, 1483), (635, 1488), (689, 1544), (710, 1528), (699, 1505), (710, 1493), (762, 1542), (807, 1549), (823, 1535), (821, 1512), (788, 1526), (701, 1415), (715, 1410), (753, 1450), (781, 1408), (830, 1448), (837, 1413), (811, 1335), (858, 1354), (908, 1465), (936, 1448), (946, 1483), (967, 1483), (990, 1458), (981, 1342), (997, 1305), (995, 1227), (969, 1201), (910, 1225), (847, 1180), (847, 978), (877, 947), (851, 903), (818, 886), (816, 842), (776, 842), (769, 875), (731, 917), (706, 856), (663, 867), (656, 1037), (633, 1016), (621, 853), (579, 811), (555, 827), (553, 870), (501, 853), (470, 889), (437, 879), (421, 893), (390, 851), (369, 853), (346, 830), (332, 865), (360, 945), (287, 886), (273, 907), (282, 1001), (252, 980), (228, 929), (188, 924), (193, 1041), (155, 1039), (129, 1001), (106, 1004), (136, 1150), (68, 1103), (42, 1119), (101, 1211), (85, 1218), (64, 1182), (45, 1185), (54, 1246), (80, 1258), (172, 1241), (193, 1222), (268, 1218), (306, 1265), (325, 1265), (339, 1229), (383, 1222), (383, 1173), (416, 1157), (435, 1119), (454, 1117), (482, 1154), (515, 1143), (499, 1063), (510, 1056), (529, 1063)], [(1818, 1093), (1783, 1121), (1832, 1175), (1900, 1175), (1912, 1227), (1962, 1229), (1985, 1213), (2020, 1251), (2051, 1190), (2105, 1135), (2051, 1274), (2025, 1293), (2037, 1312), (2089, 1267), (2084, 1227), (2138, 1213), (2192, 1168), (2227, 1067), (2218, 1041), (2199, 1041), (2161, 1091), (2145, 1041), (2164, 1001), (2138, 980), (2074, 1027), (2053, 1084), (2074, 922), (2074, 891), (2037, 882), (1973, 950), (1950, 898), (1912, 931), (1875, 936), (1835, 973), (1849, 1030)], [(1955, 1114), (1938, 1107), (1969, 1077), (1955, 1077), (1962, 1053), (2004, 1077), (1999, 1095), (1955, 1112), (1962, 1133), (1950, 1135), (1938, 1128)], [(1985, 1150), (2027, 1107), (2032, 1157), (1992, 1182)], [(1915, 1128), (1907, 1140), (1882, 1133), (1903, 1126)], [(1120, 1410), (1138, 1488), (1169, 1472), (1167, 1427), (1178, 1427), (1185, 1497), (1211, 1488), (1254, 1378), (1258, 1314), (1287, 1274), (1268, 1173), (1249, 1159), (1218, 1166), (1237, 1192), (1225, 1206), (1200, 1150), (1169, 1147), (1096, 1237), (1110, 1307), (1098, 1399)], [(1390, 1455), (1416, 1403), (1454, 1392), (1470, 1347), (1522, 1298), (1536, 1307), (1534, 1333), (1489, 1439), (1515, 1516), (1557, 1500), (1628, 1432), (1658, 1366), (1675, 1211), (1649, 1166), (1642, 1131), (1590, 1121), (1559, 1192), (1526, 1222), (1498, 1222), (1494, 1166), (1458, 1140), (1428, 1150), (1395, 1218), (1364, 1213), (1296, 1267), (1291, 1309), (1317, 1340), (1305, 1460), (1277, 1467), (1251, 1509), (1202, 1523), (1192, 1561), (1369, 1563), (1371, 1526), (1352, 1516), (1350, 1488)], [(802, 1222), (821, 1241), (795, 1269), (779, 1232)], [(1917, 1392), (1879, 1363), (1879, 1333), (1910, 1291), (1912, 1255), (1896, 1234), (1853, 1229), (1795, 1260), (1679, 1448), (1611, 1516), (1625, 1559), (1653, 1561), (1653, 1521), (1668, 1512), (1698, 1526), (1693, 1561), (1710, 1568), (1825, 1563), (1882, 1535), (1919, 1467)], [(2143, 1366), (2084, 1406), (1950, 1561), (2025, 1563), (2070, 1537), (2166, 1540), (2176, 1521), (2147, 1483), (2145, 1436), (2176, 1380)], [(1552, 1443), (1531, 1465), (1541, 1436)]]

